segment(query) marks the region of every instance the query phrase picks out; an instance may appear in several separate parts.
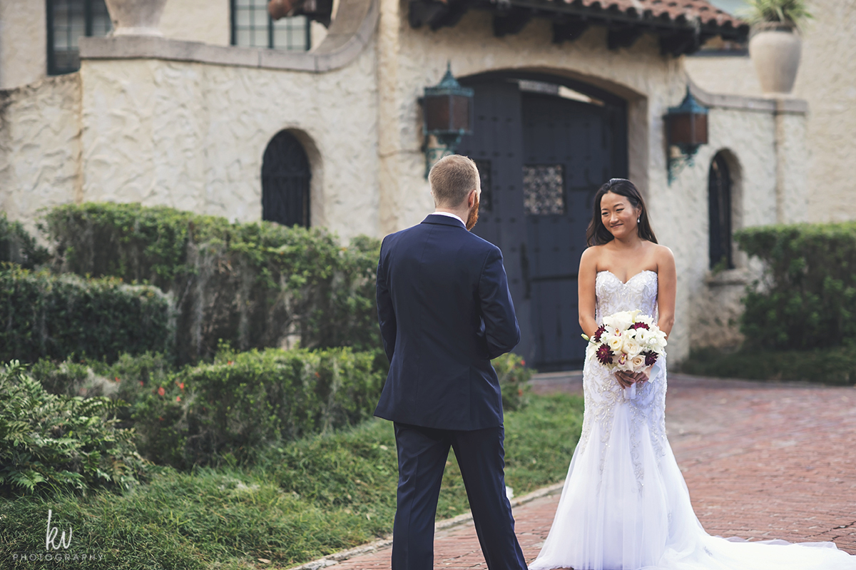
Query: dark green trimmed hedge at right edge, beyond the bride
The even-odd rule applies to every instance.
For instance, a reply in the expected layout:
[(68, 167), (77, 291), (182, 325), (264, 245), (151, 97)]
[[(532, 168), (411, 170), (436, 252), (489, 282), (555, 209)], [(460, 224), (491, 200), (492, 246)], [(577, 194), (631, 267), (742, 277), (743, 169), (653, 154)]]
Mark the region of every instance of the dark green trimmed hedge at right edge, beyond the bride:
[(743, 229), (740, 247), (764, 262), (746, 294), (746, 347), (806, 350), (856, 341), (856, 223)]

